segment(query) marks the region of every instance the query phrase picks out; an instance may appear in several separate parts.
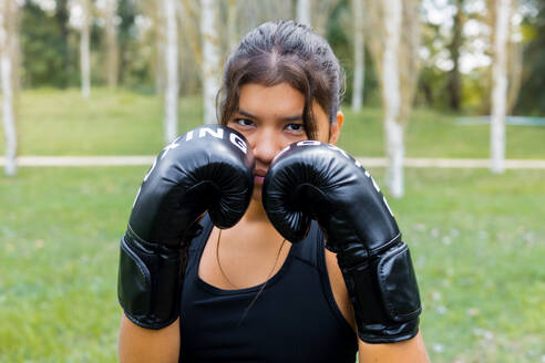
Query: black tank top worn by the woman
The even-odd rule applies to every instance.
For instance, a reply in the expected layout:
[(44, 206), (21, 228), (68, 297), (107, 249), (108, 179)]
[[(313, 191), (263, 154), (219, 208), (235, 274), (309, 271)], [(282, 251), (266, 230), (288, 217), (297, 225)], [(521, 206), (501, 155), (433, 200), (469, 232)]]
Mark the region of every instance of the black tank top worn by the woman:
[(179, 362), (356, 361), (357, 336), (335, 302), (315, 222), (244, 319), (261, 286), (222, 290), (198, 277), (213, 227), (208, 216), (202, 225), (191, 243), (182, 294)]

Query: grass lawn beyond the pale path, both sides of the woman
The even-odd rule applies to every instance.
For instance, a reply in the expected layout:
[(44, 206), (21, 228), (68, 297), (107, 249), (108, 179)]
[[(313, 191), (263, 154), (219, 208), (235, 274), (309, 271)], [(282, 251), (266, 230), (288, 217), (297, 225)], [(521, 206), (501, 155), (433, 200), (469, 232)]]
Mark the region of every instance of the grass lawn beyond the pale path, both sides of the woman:
[[(93, 89), (30, 90), (19, 97), (20, 155), (155, 155), (163, 145), (163, 103), (154, 95)], [(352, 113), (339, 145), (357, 156), (383, 156), (382, 111)], [(182, 98), (179, 132), (202, 122), (199, 98)], [(507, 126), (508, 158), (545, 158), (545, 127)], [(486, 125), (460, 126), (454, 115), (417, 110), (407, 126), (407, 155), (489, 157)], [(0, 149), (4, 148), (0, 137)]]

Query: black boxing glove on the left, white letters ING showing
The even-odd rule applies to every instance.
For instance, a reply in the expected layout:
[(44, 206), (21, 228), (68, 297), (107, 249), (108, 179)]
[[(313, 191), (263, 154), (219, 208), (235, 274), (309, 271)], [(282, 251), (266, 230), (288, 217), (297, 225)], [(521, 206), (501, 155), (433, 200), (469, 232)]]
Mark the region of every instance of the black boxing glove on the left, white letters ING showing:
[(241, 134), (197, 127), (168, 144), (144, 177), (121, 239), (117, 295), (135, 324), (161, 329), (179, 315), (188, 243), (207, 210), (219, 228), (245, 214), (254, 156)]

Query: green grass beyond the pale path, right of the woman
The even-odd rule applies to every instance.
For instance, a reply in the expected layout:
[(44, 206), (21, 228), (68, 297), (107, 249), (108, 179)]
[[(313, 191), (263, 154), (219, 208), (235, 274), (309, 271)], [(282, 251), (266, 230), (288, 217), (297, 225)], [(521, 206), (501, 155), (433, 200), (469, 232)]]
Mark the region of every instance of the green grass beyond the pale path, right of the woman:
[[(358, 156), (384, 156), (382, 111), (352, 113), (345, 107), (346, 122), (339, 145)], [(409, 157), (490, 157), (490, 126), (455, 124), (457, 115), (415, 110), (405, 126)], [(545, 127), (507, 126), (507, 158), (545, 158)]]

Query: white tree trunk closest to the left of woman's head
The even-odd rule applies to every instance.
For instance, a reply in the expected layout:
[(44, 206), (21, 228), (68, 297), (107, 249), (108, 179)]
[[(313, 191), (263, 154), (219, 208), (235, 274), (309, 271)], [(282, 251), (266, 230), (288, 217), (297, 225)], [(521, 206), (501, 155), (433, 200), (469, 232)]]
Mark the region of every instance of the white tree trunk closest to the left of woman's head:
[(215, 124), (216, 95), (219, 91), (222, 77), (222, 62), (219, 58), (220, 41), (217, 33), (217, 2), (200, 0), (200, 34), (203, 37), (203, 101), (204, 123)]

